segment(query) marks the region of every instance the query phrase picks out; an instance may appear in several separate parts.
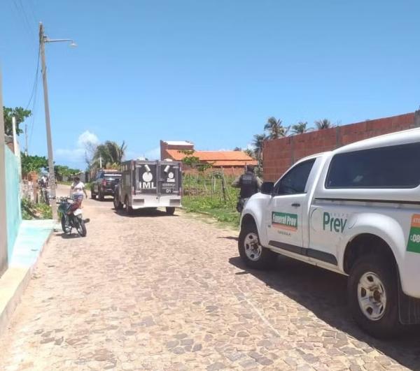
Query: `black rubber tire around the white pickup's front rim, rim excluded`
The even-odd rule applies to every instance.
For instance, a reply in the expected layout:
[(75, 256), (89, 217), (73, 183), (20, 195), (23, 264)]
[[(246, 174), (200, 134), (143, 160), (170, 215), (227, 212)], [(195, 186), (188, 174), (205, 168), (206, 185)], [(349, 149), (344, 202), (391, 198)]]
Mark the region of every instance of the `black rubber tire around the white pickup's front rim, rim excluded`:
[[(255, 236), (251, 238), (251, 236)], [(248, 238), (247, 238), (248, 237)], [(258, 249), (260, 249), (260, 253), (255, 253), (254, 258), (248, 257), (248, 255), (252, 256), (252, 252), (249, 252), (249, 249), (253, 249), (253, 246), (248, 243), (249, 240), (255, 240), (255, 244), (257, 244)], [(247, 223), (241, 227), (241, 232), (239, 233), (238, 239), (238, 249), (239, 255), (241, 256), (242, 261), (245, 265), (249, 268), (253, 269), (267, 269), (272, 268), (276, 261), (277, 254), (272, 252), (271, 250), (262, 247), (260, 245), (260, 237), (258, 235), (258, 229), (255, 226), (255, 223)], [(247, 251), (248, 250), (248, 254)]]

